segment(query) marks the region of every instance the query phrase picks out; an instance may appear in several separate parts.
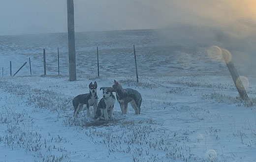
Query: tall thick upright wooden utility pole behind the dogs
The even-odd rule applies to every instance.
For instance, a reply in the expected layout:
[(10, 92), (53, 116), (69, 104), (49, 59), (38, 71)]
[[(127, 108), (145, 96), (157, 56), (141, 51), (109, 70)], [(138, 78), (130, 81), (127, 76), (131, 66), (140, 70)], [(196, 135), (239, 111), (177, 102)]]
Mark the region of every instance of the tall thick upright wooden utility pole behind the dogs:
[(66, 0), (66, 3), (67, 3), (69, 81), (76, 81), (74, 1)]

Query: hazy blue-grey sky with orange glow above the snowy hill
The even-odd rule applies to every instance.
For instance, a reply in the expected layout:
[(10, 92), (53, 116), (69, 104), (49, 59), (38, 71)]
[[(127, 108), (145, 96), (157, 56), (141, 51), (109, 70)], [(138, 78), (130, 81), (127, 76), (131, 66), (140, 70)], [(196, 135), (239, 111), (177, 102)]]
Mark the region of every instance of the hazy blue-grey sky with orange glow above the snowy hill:
[[(74, 0), (75, 30), (174, 23), (254, 30), (256, 0)], [(0, 0), (0, 35), (67, 31), (66, 0)]]

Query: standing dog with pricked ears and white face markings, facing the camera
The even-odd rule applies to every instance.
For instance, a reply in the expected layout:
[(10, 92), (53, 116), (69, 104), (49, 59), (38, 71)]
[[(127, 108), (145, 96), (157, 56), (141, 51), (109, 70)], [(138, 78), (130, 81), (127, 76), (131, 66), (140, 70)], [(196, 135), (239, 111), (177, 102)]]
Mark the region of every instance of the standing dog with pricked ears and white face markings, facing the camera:
[(94, 115), (96, 114), (98, 96), (97, 96), (97, 82), (89, 84), (90, 93), (80, 94), (73, 99), (74, 117), (83, 109), (84, 105), (87, 107), (87, 116), (90, 116), (90, 107), (94, 107)]

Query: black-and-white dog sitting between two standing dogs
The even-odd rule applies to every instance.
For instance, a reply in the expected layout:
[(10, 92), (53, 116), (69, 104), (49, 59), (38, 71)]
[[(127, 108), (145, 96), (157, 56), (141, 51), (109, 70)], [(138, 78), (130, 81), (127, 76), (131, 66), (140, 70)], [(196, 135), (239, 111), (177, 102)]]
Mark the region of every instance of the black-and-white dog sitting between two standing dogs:
[(113, 118), (113, 109), (116, 102), (116, 98), (113, 95), (112, 87), (101, 87), (99, 90), (103, 90), (103, 98), (100, 99), (95, 118), (109, 120)]

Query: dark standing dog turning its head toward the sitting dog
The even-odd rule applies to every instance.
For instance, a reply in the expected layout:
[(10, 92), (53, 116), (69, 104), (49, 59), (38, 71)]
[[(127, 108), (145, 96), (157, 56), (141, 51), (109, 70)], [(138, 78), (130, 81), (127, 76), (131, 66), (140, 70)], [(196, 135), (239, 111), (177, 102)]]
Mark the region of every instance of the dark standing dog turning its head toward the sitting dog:
[(142, 97), (137, 90), (131, 88), (124, 89), (116, 80), (114, 80), (112, 88), (113, 91), (116, 92), (117, 100), (123, 114), (127, 114), (128, 103), (130, 103), (131, 107), (135, 110), (135, 114), (140, 114)]

